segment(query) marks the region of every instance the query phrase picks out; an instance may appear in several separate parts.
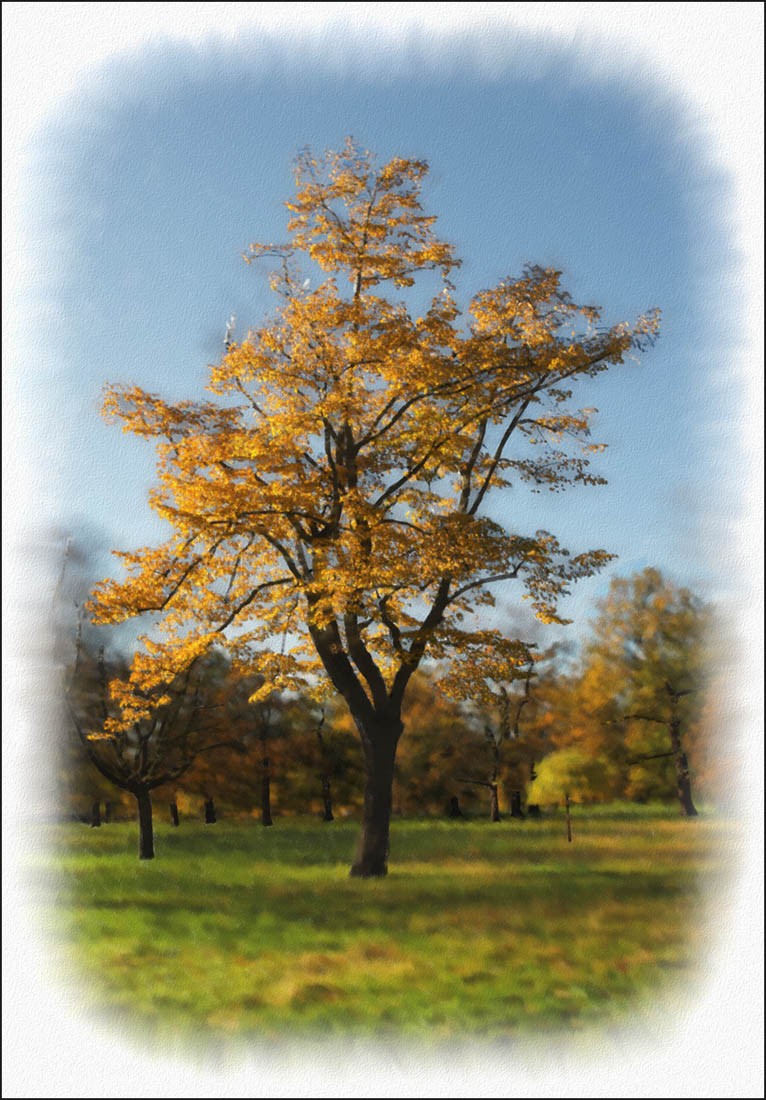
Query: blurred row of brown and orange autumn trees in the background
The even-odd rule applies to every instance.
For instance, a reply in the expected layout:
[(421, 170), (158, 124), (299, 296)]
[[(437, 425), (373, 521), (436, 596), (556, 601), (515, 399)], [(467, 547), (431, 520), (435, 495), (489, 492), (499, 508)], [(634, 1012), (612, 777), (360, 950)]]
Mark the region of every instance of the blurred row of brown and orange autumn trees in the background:
[[(703, 690), (709, 626), (701, 601), (647, 569), (613, 580), (576, 657), (560, 647), (534, 652), (526, 676), (493, 682), (475, 704), (450, 697), (449, 669), (424, 667), (406, 704), (394, 814), (444, 815), (451, 806), (518, 816), (530, 802), (545, 807), (565, 794), (581, 802), (680, 799), (688, 813), (679, 766), (689, 800), (692, 783), (709, 794), (715, 782), (714, 714)], [(58, 757), (66, 815), (96, 823), (135, 816), (142, 781), (152, 785), (155, 817), (173, 806), (182, 820), (198, 817), (211, 802), (218, 813), (264, 825), (281, 815), (361, 813), (364, 761), (342, 700), (318, 703), (295, 691), (251, 703), (259, 678), (214, 650), (164, 702), (149, 701), (132, 737), (120, 733), (120, 763), (108, 736), (109, 682), (128, 674), (131, 654), (105, 656), (81, 629), (72, 650)]]

